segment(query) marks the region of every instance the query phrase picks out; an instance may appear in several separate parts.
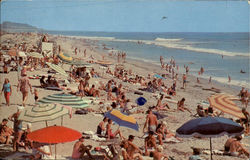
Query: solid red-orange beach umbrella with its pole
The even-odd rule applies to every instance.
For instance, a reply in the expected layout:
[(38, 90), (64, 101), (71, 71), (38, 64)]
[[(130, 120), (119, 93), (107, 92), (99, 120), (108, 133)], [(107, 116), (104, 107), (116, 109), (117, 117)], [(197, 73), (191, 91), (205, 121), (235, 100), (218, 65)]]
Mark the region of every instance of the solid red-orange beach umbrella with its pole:
[(27, 138), (31, 141), (55, 144), (55, 159), (56, 144), (72, 142), (81, 137), (82, 134), (80, 132), (63, 126), (50, 126), (35, 130), (27, 135)]

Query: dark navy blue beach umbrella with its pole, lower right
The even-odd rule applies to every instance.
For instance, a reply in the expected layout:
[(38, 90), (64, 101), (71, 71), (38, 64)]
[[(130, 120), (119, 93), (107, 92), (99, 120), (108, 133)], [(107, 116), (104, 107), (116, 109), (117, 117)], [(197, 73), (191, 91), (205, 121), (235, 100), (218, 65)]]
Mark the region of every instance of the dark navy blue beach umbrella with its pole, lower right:
[(178, 137), (202, 137), (210, 138), (210, 152), (212, 158), (213, 137), (223, 135), (239, 136), (244, 132), (244, 128), (238, 123), (223, 117), (202, 117), (192, 119), (176, 130)]

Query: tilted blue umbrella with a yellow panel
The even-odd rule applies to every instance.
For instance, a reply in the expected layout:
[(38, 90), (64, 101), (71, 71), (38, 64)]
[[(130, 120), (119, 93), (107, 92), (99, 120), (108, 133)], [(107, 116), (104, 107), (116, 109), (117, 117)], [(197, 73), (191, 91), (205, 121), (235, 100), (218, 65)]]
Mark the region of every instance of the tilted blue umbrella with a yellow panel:
[(139, 131), (139, 125), (136, 122), (136, 119), (132, 116), (128, 116), (125, 113), (120, 112), (119, 110), (113, 109), (109, 112), (106, 112), (104, 116), (111, 119), (119, 126), (128, 127), (136, 131)]

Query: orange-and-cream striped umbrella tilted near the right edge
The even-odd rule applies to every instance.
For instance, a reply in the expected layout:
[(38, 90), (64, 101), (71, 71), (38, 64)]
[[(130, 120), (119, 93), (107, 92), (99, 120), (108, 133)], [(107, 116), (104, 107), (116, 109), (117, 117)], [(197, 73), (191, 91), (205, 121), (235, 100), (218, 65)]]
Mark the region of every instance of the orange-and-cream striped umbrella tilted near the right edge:
[(241, 109), (236, 106), (233, 100), (237, 100), (237, 98), (228, 94), (215, 94), (208, 98), (211, 107), (217, 108), (235, 117), (244, 118), (245, 116)]

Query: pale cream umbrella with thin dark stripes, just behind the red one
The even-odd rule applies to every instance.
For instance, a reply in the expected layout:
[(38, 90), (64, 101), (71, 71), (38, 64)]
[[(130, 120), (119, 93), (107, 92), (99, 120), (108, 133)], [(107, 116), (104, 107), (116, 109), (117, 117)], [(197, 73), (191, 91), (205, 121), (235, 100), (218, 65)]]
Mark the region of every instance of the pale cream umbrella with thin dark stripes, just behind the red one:
[(38, 104), (32, 108), (26, 108), (18, 119), (30, 123), (45, 121), (48, 126), (47, 121), (63, 117), (68, 113), (69, 110), (61, 104)]

